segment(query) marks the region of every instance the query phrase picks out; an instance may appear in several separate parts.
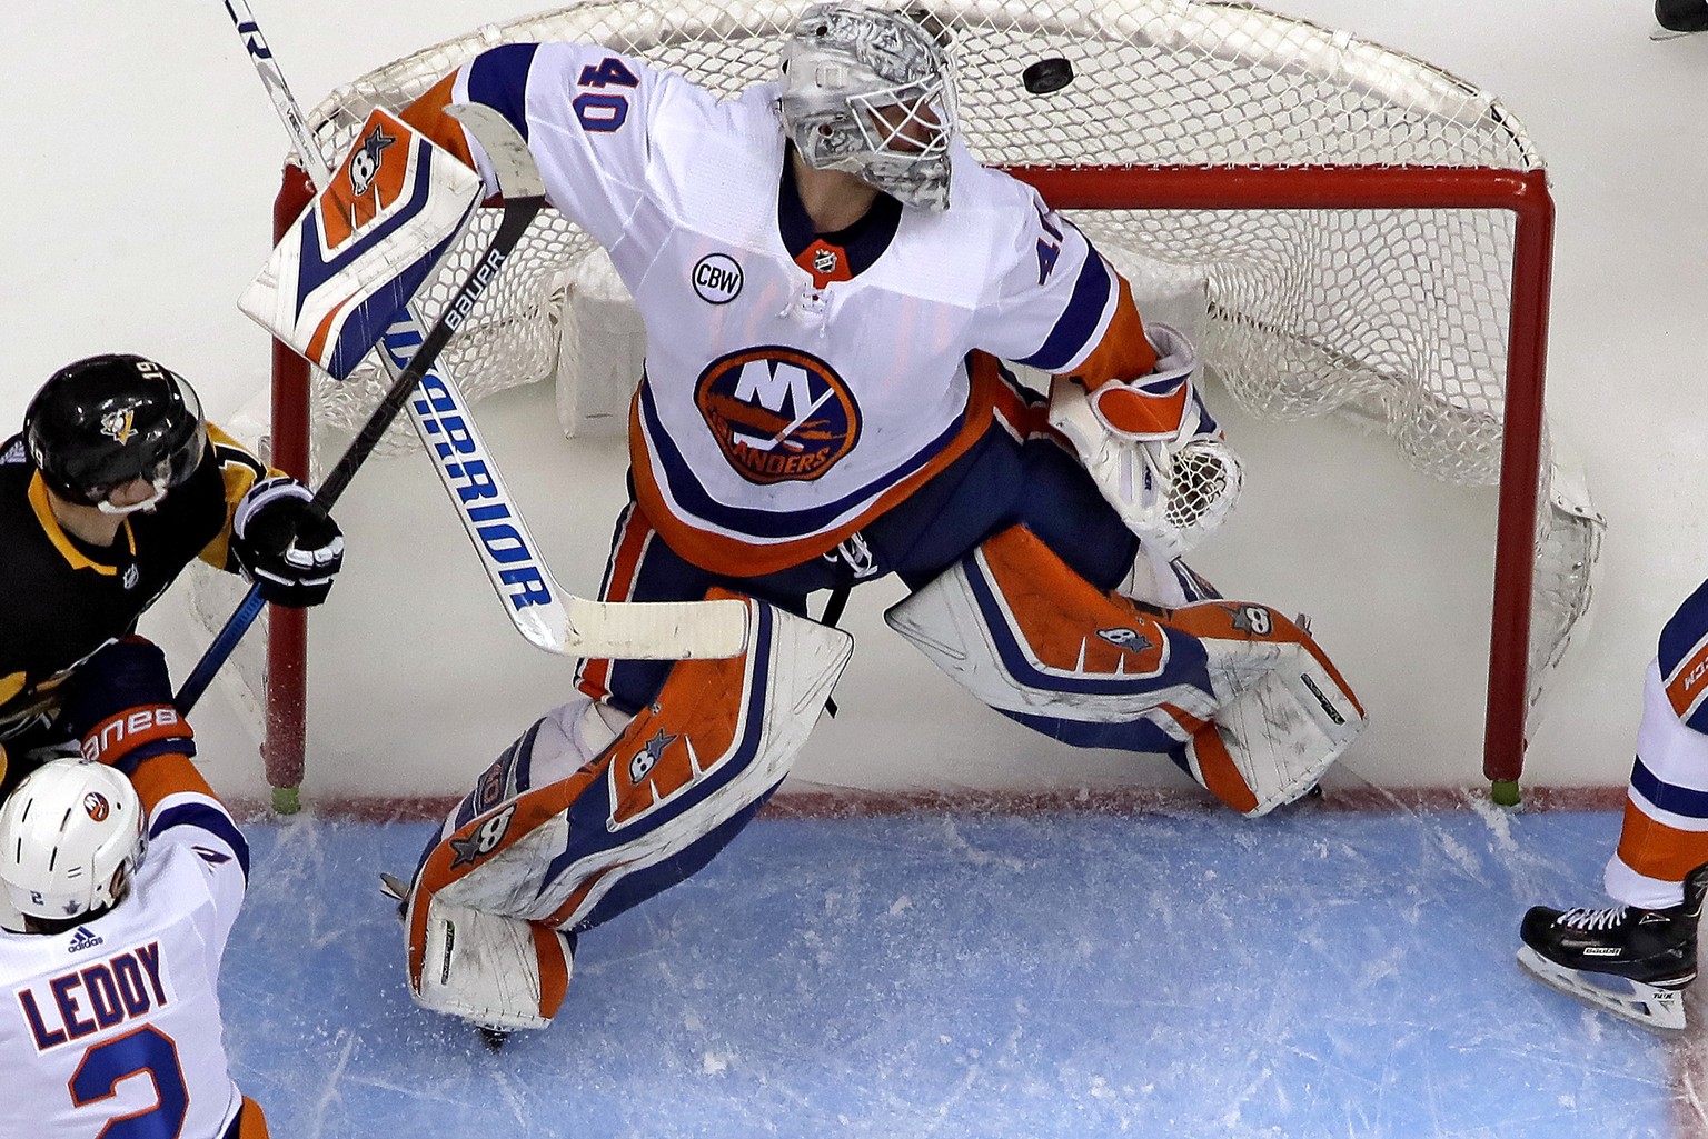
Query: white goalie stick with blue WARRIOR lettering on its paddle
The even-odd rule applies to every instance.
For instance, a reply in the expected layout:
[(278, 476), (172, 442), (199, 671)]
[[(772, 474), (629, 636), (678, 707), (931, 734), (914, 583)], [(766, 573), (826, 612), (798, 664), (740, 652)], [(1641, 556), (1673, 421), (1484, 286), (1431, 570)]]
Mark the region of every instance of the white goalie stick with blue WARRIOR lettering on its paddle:
[[(284, 72), (273, 61), (272, 48), (261, 36), (248, 0), (224, 0), (224, 5), (273, 101), (273, 109), (290, 135), (292, 147), (307, 166), (314, 184), (325, 186), (331, 171), (290, 94)], [(492, 157), (490, 152), (488, 157)], [(531, 155), (526, 150), (518, 159), (531, 166)], [(446, 311), (454, 311), (454, 306)], [(410, 348), (424, 345), (422, 324), (413, 311), (405, 312), (386, 330), (381, 343), (381, 362), (396, 381), (407, 364), (420, 357), (420, 348), (413, 353)], [(548, 652), (565, 656), (680, 659), (736, 656), (743, 651), (746, 645), (746, 606), (738, 601), (611, 605), (588, 601), (564, 591), (543, 558), (535, 553), (538, 546), (528, 533), (521, 511), (514, 507), (504, 488), (499, 466), (480, 439), (475, 418), (456, 384), (447, 374), (436, 371), (432, 360), (425, 364), (418, 376), (422, 398), (407, 401), (405, 393), (405, 408), (427, 446), (427, 453), (434, 458), (434, 470), (439, 473), (441, 483), (458, 505), (458, 519), (475, 543), (488, 581), (509, 603), (506, 613), (523, 637)], [(454, 449), (442, 444), (449, 435), (447, 427), (453, 425)], [(468, 471), (477, 470), (483, 473), (480, 495), (475, 497), (475, 502), (465, 502), (461, 492), (466, 490), (471, 478)], [(502, 562), (499, 553), (502, 553)], [(260, 611), (261, 601), (251, 589), (179, 692), (179, 710), (188, 710), (202, 697), (214, 673), (236, 649), (243, 632)]]

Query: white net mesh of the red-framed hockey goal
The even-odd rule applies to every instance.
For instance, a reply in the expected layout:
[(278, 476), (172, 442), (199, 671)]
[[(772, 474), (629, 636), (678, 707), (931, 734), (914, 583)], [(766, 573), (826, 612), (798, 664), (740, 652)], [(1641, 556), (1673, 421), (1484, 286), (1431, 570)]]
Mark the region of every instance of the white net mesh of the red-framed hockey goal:
[[(717, 92), (770, 79), (799, 0), (577, 3), (427, 48), (335, 91), (309, 116), (328, 157), (374, 106), (398, 108), (499, 43), (582, 39)], [(1488, 92), (1411, 56), (1249, 3), (936, 0), (974, 154), (1003, 166), (1382, 166), (1537, 171), (1522, 126)], [(1021, 84), (1059, 56), (1054, 94)], [(1139, 203), (1132, 203), (1138, 207)], [(495, 212), (488, 212), (495, 213)], [(1262, 418), (1346, 412), (1448, 483), (1500, 480), (1513, 215), (1501, 208), (1074, 210), (1117, 265), (1144, 258), (1208, 282), (1201, 355)], [(424, 292), (432, 319), (470, 272), (466, 242)], [(442, 357), (470, 398), (574, 365), (559, 345), (565, 282), (593, 242), (550, 213)], [(637, 374), (635, 374), (637, 376)], [(318, 377), (316, 430), (342, 446), (383, 391), (377, 369)], [(342, 430), (340, 430), (342, 429)], [(410, 446), (408, 425), (388, 446)], [(1532, 698), (1588, 605), (1600, 519), (1542, 463)]]

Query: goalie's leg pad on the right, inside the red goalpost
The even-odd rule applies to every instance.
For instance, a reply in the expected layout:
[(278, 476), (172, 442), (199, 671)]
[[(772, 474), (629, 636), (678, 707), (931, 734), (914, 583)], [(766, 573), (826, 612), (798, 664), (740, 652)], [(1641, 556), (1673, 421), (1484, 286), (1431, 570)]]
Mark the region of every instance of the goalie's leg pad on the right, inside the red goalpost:
[(885, 616), (991, 707), (1081, 746), (1184, 753), (1245, 815), (1308, 791), (1365, 724), (1295, 622), (1243, 601), (1146, 610), (1020, 526)]

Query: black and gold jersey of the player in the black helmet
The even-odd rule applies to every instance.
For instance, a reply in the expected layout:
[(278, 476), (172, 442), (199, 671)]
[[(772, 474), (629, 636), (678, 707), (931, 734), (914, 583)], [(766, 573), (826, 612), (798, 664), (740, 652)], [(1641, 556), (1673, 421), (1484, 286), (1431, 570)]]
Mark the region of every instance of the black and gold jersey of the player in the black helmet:
[(101, 645), (137, 628), (191, 558), (229, 562), (231, 516), (270, 471), (208, 425), (196, 470), (150, 512), (120, 524), (111, 546), (60, 526), (22, 437), (0, 444), (0, 741), (43, 727), (56, 690)]

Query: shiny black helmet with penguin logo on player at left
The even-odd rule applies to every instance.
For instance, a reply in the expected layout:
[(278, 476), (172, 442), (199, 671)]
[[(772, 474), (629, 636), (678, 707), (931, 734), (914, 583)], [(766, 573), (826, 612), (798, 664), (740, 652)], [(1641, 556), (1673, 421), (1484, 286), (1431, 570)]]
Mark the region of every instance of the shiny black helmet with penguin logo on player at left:
[(195, 389), (140, 355), (67, 364), (24, 413), (24, 442), (41, 476), (87, 505), (133, 478), (176, 487), (202, 461), (207, 439)]

